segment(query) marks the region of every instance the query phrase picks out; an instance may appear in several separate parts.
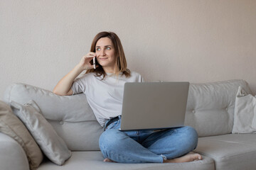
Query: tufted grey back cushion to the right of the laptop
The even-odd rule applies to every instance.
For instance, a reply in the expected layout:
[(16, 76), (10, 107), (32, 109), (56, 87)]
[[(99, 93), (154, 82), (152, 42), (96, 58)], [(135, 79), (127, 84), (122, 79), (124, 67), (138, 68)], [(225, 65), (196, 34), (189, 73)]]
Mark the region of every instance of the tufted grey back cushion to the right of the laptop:
[(251, 92), (244, 80), (191, 84), (185, 125), (195, 128), (199, 137), (231, 133), (239, 86)]

